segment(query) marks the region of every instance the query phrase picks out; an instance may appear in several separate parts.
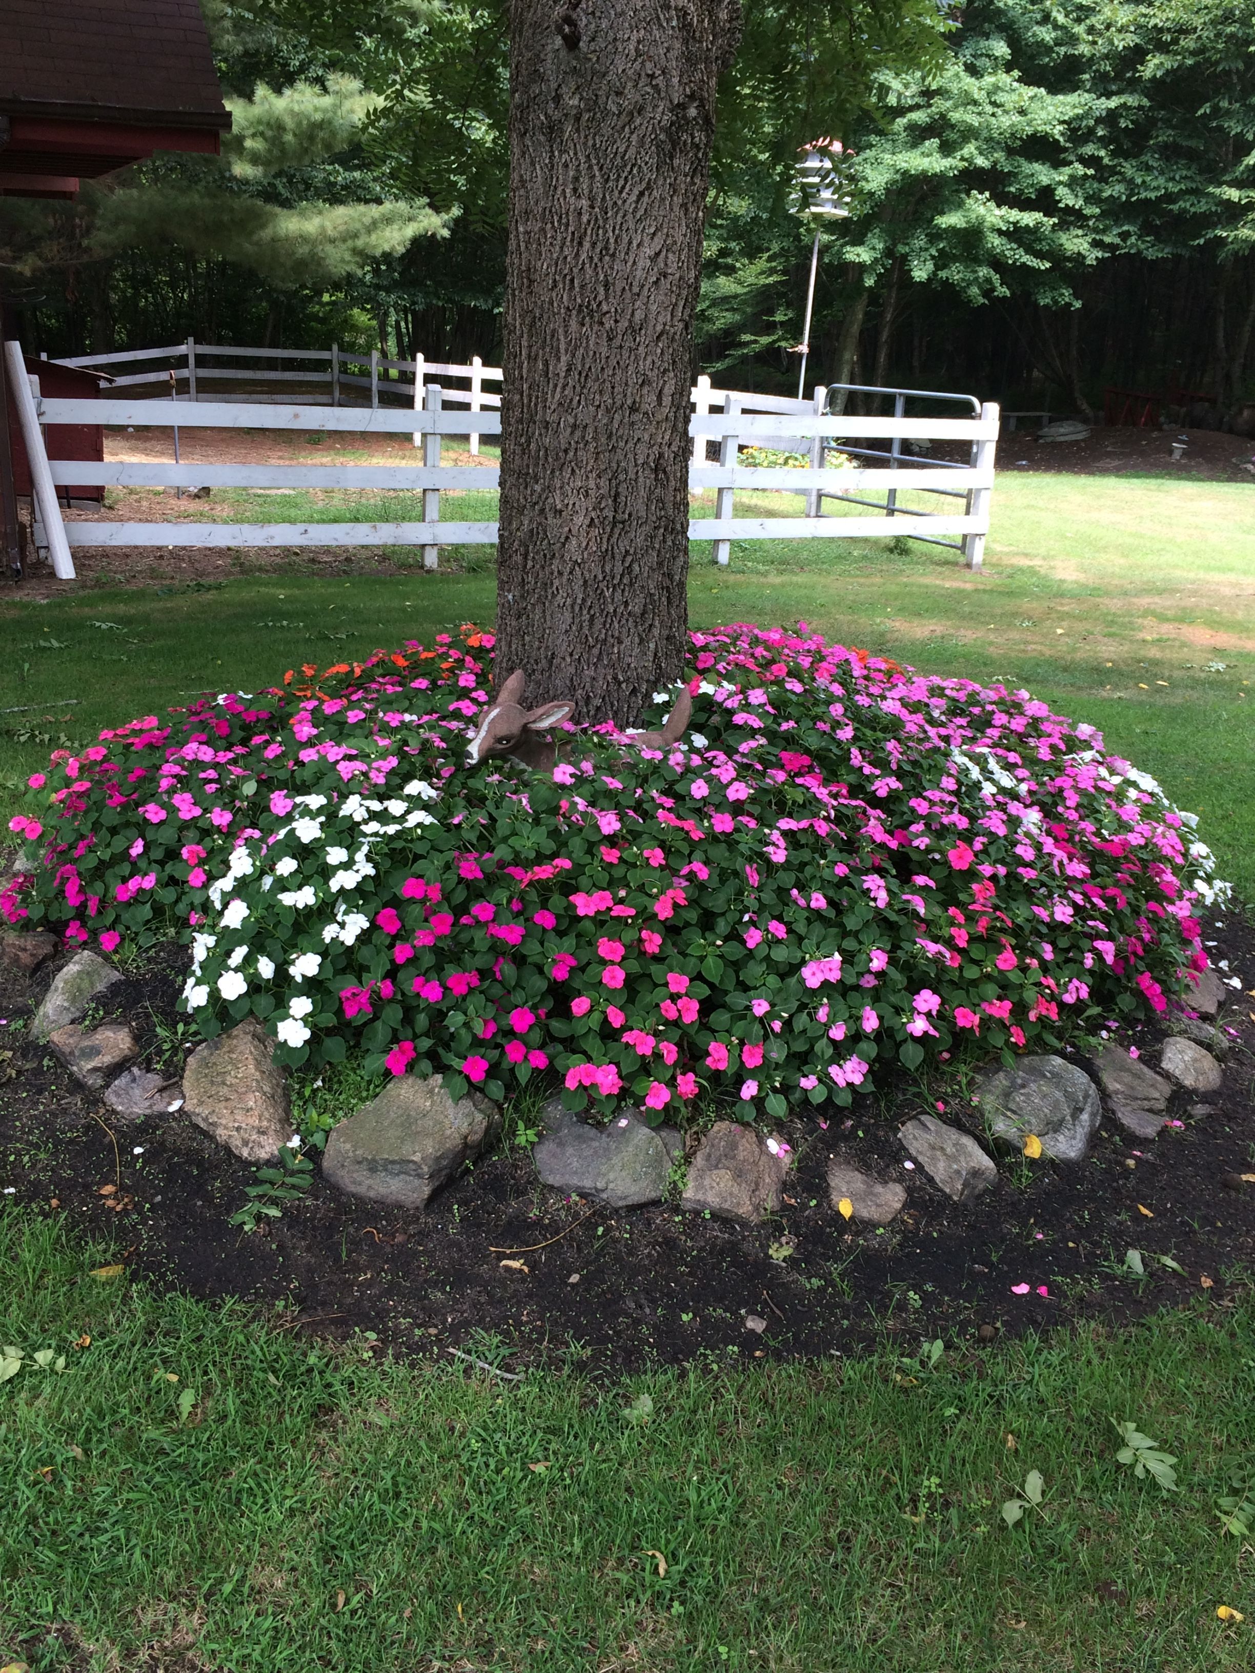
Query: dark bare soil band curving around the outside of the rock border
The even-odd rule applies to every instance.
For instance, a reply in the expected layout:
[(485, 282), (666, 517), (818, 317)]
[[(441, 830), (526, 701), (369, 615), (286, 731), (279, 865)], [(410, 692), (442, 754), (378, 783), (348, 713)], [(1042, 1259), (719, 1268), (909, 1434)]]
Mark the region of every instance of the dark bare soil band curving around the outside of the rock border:
[[(1255, 989), (1250, 927), (1230, 913), (1213, 939), (1213, 957), (1230, 960), (1243, 990)], [(982, 1325), (1118, 1322), (1200, 1295), (1223, 1303), (1252, 1266), (1255, 1184), (1233, 1178), (1255, 1173), (1255, 1022), (1245, 992), (1232, 992), (1227, 1014), (1238, 1037), (1225, 1087), (1205, 1104), (1178, 1094), (1171, 1114), (1181, 1128), (1145, 1143), (1108, 1121), (1084, 1164), (1004, 1161), (999, 1183), (967, 1208), (920, 1169), (905, 1173), (895, 1138), (907, 1116), (935, 1108), (934, 1097), (947, 1106), (944, 1119), (971, 1116), (966, 1076), (955, 1071), (929, 1101), (900, 1089), (865, 1099), (827, 1129), (813, 1118), (790, 1124), (798, 1164), (785, 1208), (753, 1230), (676, 1205), (589, 1211), (540, 1186), (529, 1153), (510, 1149), (482, 1159), (425, 1213), (371, 1208), (318, 1178), (281, 1220), (244, 1235), (228, 1216), (253, 1183), (249, 1166), (182, 1114), (117, 1123), (22, 1032), (49, 977), (3, 977), (0, 987), (2, 1044), (12, 1051), (0, 1057), (8, 1076), (0, 1082), (0, 1186), (15, 1188), (5, 1201), (110, 1238), (115, 1258), (156, 1285), (281, 1308), (281, 1328), (340, 1338), (375, 1332), (382, 1345), (428, 1355), (482, 1353), (485, 1333), (495, 1333), (514, 1347), (514, 1369), (572, 1347), (602, 1369), (703, 1353), (723, 1362), (848, 1353), (885, 1333), (914, 1352), (934, 1337), (971, 1338)], [(119, 1007), (151, 1062), (162, 1051), (177, 1062), (182, 1052), (169, 1034), (177, 980), (174, 957), (154, 959)], [(1155, 1031), (1121, 1039), (1155, 1061)], [(909, 1179), (907, 1211), (892, 1228), (852, 1230), (828, 1205), (823, 1171), (837, 1153)], [(119, 1171), (120, 1193), (102, 1195)], [(1146, 1280), (1124, 1268), (1130, 1248), (1143, 1251)], [(1170, 1255), (1185, 1273), (1153, 1255)], [(1016, 1297), (1017, 1283), (1031, 1292)], [(746, 1313), (766, 1330), (748, 1330)]]

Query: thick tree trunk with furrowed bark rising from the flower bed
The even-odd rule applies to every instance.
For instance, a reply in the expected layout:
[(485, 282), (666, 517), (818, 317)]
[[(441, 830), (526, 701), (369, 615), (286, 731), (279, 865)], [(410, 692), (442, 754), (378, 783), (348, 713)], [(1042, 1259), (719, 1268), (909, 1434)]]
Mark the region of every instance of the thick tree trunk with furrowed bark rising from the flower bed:
[(689, 338), (740, 0), (510, 0), (497, 666), (633, 723), (686, 651)]

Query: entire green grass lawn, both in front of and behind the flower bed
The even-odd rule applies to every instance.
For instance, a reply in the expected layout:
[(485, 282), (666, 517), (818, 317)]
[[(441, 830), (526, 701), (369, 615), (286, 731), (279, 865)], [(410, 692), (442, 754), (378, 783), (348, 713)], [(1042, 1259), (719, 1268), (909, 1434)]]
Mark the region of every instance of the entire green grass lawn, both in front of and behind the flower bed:
[[(479, 499), (445, 514), (492, 515)], [(907, 542), (745, 542), (726, 570), (694, 549), (693, 621), (805, 617), (930, 673), (1031, 686), (1198, 810), (1252, 898), (1255, 490), (1034, 475), (1004, 478), (994, 505), (981, 576)], [(791, 507), (743, 507), (768, 510)], [(295, 559), (221, 587), (38, 596), (0, 601), (10, 800), (60, 734), (494, 614), (474, 565), (345, 577)], [(0, 1338), (67, 1360), (0, 1384), (0, 1666), (1255, 1665), (1248, 1546), (1215, 1509), (1235, 1474), (1255, 1491), (1250, 1303), (984, 1355), (947, 1343), (932, 1370), (902, 1363), (912, 1342), (597, 1384), (556, 1343), (554, 1369), (515, 1384), (90, 1276), (105, 1258), (0, 1213)], [(1176, 1454), (1180, 1491), (1116, 1461), (1113, 1422)], [(1029, 1471), (1042, 1507), (1011, 1529), (1001, 1506)], [(1222, 1604), (1247, 1621), (1222, 1623)]]

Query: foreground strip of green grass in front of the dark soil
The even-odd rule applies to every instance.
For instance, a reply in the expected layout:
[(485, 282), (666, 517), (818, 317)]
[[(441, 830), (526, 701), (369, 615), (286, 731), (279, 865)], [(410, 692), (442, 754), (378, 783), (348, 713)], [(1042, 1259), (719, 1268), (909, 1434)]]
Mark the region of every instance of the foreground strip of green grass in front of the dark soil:
[[(1217, 1514), (1252, 1484), (1250, 1307), (934, 1369), (909, 1343), (500, 1382), (104, 1260), (0, 1215), (5, 1337), (65, 1355), (0, 1385), (0, 1653), (35, 1673), (1252, 1666)], [(1176, 1491), (1119, 1464), (1116, 1422), (1176, 1457)], [(1009, 1527), (1031, 1471), (1041, 1509)]]

